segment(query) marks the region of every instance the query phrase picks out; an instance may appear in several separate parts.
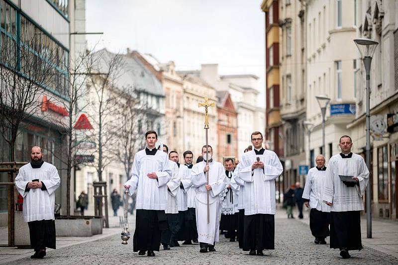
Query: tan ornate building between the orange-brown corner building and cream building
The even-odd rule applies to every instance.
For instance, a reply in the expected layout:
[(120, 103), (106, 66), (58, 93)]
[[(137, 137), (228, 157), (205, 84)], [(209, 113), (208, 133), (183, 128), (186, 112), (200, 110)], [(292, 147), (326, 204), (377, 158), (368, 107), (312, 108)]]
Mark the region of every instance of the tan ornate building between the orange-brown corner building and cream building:
[(284, 181), (282, 190), (300, 181), (298, 166), (307, 165), (304, 150), (306, 119), (305, 10), (300, 1), (279, 1), (279, 84), (283, 130)]

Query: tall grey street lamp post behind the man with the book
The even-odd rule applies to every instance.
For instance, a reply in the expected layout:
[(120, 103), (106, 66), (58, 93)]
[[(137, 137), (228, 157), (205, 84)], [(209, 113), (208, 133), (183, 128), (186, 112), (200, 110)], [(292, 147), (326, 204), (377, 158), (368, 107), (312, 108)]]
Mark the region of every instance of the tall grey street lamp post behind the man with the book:
[[(362, 61), (364, 62), (366, 71), (366, 166), (371, 171), (370, 163), (370, 65), (372, 63), (372, 56), (376, 50), (378, 42), (371, 39), (355, 39), (355, 44), (361, 53)], [(373, 176), (371, 176), (373, 177)], [(367, 238), (372, 238), (372, 192), (371, 183), (368, 182), (366, 187), (366, 235)]]

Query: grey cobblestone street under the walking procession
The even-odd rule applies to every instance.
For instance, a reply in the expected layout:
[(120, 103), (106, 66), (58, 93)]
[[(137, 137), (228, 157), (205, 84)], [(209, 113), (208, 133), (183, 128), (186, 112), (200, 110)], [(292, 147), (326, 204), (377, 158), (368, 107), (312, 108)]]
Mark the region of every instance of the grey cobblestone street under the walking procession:
[[(199, 253), (199, 245), (173, 248), (155, 252), (155, 257), (138, 257), (132, 252), (132, 238), (128, 245), (121, 245), (119, 235), (85, 244), (48, 251), (43, 260), (24, 258), (9, 264), (398, 264), (398, 259), (365, 247), (352, 251), (351, 259), (342, 260), (338, 250), (329, 245), (314, 245), (309, 227), (298, 220), (276, 218), (275, 248), (265, 251), (266, 256), (249, 256), (238, 248), (237, 242), (229, 242), (220, 236), (216, 252)], [(131, 226), (130, 226), (131, 227)], [(328, 242), (328, 238), (326, 240)]]

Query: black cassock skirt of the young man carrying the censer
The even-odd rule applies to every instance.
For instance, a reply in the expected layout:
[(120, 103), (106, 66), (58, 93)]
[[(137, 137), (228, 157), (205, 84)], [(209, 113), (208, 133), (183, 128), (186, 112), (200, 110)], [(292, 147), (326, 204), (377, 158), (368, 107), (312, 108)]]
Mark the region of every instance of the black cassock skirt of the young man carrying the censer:
[(161, 231), (167, 227), (165, 211), (137, 209), (133, 251), (159, 251)]

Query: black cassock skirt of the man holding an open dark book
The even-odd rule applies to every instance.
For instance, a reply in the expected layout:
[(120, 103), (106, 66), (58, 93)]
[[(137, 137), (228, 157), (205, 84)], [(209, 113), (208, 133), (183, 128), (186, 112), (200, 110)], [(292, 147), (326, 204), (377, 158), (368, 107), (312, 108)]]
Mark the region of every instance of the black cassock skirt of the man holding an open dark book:
[(330, 212), (330, 248), (361, 250), (361, 211)]

